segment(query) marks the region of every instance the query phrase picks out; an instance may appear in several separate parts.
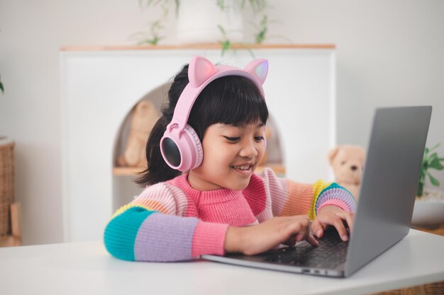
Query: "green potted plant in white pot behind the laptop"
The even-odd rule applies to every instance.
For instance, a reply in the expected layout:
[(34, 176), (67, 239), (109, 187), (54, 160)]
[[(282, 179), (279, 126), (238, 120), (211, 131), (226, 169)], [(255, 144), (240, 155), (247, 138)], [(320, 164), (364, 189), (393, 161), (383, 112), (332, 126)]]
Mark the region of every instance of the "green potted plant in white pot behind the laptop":
[(444, 223), (444, 192), (428, 190), (424, 187), (427, 178), (431, 185), (436, 187), (440, 185), (440, 182), (430, 173), (431, 169), (444, 169), (444, 158), (440, 158), (437, 152), (432, 153), (438, 146), (440, 144), (436, 144), (432, 149), (426, 148), (424, 151), (412, 219), (412, 224), (416, 226), (438, 226)]

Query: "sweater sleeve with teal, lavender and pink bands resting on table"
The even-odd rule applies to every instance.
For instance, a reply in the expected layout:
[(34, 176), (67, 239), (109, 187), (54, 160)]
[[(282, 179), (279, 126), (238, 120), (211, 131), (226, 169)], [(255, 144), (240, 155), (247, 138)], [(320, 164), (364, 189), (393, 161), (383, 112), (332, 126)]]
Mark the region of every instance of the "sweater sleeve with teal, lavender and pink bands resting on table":
[(223, 255), (228, 225), (184, 217), (187, 199), (177, 187), (152, 185), (112, 216), (104, 231), (111, 255), (123, 260), (172, 262)]

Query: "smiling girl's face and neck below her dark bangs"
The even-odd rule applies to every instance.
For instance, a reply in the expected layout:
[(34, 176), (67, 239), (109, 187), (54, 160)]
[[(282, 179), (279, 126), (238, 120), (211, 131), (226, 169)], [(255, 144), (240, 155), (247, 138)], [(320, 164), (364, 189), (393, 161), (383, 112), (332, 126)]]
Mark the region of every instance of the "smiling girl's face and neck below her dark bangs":
[(204, 134), (201, 166), (189, 171), (188, 181), (196, 190), (243, 190), (262, 160), (265, 125), (210, 125)]

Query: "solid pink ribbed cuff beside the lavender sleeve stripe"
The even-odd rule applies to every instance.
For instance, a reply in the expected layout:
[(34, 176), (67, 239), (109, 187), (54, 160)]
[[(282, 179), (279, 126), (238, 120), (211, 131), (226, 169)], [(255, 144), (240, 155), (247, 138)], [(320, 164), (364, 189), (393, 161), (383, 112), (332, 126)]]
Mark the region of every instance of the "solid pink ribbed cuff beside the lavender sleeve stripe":
[(228, 224), (200, 221), (194, 230), (192, 256), (223, 255), (227, 229)]

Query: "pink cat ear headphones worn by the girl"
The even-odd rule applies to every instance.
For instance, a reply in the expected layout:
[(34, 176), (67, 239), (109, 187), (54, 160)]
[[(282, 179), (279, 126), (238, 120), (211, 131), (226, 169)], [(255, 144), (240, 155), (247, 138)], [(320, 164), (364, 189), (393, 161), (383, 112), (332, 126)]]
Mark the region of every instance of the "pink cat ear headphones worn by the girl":
[(267, 59), (255, 59), (245, 69), (238, 69), (233, 66), (215, 66), (204, 57), (192, 57), (188, 67), (189, 83), (177, 100), (172, 120), (160, 139), (160, 151), (168, 166), (187, 171), (201, 164), (204, 158), (201, 141), (187, 121), (194, 101), (211, 81), (223, 76), (243, 76), (255, 83), (265, 97), (262, 84), (267, 73)]

